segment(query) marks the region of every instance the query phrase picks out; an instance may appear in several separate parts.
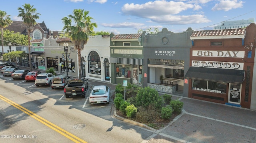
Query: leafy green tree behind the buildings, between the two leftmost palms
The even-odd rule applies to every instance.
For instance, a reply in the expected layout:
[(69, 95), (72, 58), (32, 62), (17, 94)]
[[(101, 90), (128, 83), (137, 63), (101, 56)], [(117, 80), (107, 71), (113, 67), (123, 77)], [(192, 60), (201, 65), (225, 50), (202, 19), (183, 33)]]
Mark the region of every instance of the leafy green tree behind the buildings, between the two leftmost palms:
[[(15, 45), (28, 45), (28, 35), (20, 34), (20, 32), (14, 33), (14, 31), (4, 30), (4, 45), (12, 43)], [(10, 42), (8, 42), (10, 41)]]

